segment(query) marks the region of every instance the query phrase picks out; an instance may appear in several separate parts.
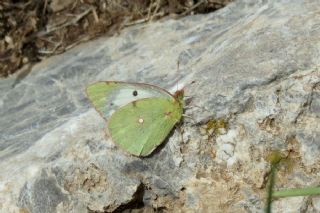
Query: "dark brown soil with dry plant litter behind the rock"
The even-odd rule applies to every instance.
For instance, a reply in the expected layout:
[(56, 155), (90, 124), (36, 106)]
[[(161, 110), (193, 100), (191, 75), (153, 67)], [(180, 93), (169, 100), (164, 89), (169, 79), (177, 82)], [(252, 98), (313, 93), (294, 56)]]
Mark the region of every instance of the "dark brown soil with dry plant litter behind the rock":
[(100, 35), (165, 16), (209, 13), (232, 0), (1, 0), (0, 77)]

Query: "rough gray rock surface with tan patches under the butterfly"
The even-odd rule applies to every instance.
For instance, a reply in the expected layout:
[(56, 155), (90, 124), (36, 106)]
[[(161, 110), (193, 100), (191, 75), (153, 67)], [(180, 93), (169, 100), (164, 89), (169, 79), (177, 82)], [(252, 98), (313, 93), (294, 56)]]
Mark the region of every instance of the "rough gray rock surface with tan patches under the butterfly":
[[(319, 185), (319, 8), (317, 0), (236, 1), (81, 44), (36, 65), (14, 88), (15, 76), (2, 79), (0, 211), (110, 212), (143, 203), (147, 212), (263, 212), (272, 150), (293, 159), (278, 188)], [(98, 80), (184, 87), (193, 120), (150, 157), (130, 156), (105, 136), (85, 97)], [(220, 134), (201, 133), (218, 119), (227, 123)], [(317, 198), (280, 199), (274, 211), (319, 206)]]

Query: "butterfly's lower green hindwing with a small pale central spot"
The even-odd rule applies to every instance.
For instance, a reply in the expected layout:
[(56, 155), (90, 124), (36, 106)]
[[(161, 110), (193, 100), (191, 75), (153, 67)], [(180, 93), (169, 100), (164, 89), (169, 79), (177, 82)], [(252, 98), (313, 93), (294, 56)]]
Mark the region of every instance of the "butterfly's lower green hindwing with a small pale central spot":
[(181, 119), (183, 107), (169, 98), (146, 98), (129, 103), (110, 117), (112, 140), (136, 156), (149, 155)]

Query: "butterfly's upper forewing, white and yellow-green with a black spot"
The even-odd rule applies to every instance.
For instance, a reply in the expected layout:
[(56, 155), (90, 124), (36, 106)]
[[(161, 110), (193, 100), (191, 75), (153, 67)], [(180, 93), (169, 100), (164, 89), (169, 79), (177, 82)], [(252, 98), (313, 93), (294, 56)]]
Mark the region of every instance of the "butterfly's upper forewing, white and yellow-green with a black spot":
[(174, 99), (160, 87), (120, 81), (97, 82), (89, 85), (86, 92), (96, 110), (106, 120), (120, 107), (139, 99), (151, 97)]

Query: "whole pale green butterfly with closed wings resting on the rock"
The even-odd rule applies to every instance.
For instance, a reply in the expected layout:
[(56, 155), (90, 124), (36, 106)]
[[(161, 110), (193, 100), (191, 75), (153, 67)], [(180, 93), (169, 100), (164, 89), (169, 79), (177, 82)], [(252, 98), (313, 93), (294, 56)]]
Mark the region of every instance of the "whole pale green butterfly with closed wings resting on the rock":
[(108, 121), (114, 143), (136, 156), (147, 156), (168, 136), (183, 113), (183, 90), (174, 95), (143, 83), (101, 81), (87, 96)]

